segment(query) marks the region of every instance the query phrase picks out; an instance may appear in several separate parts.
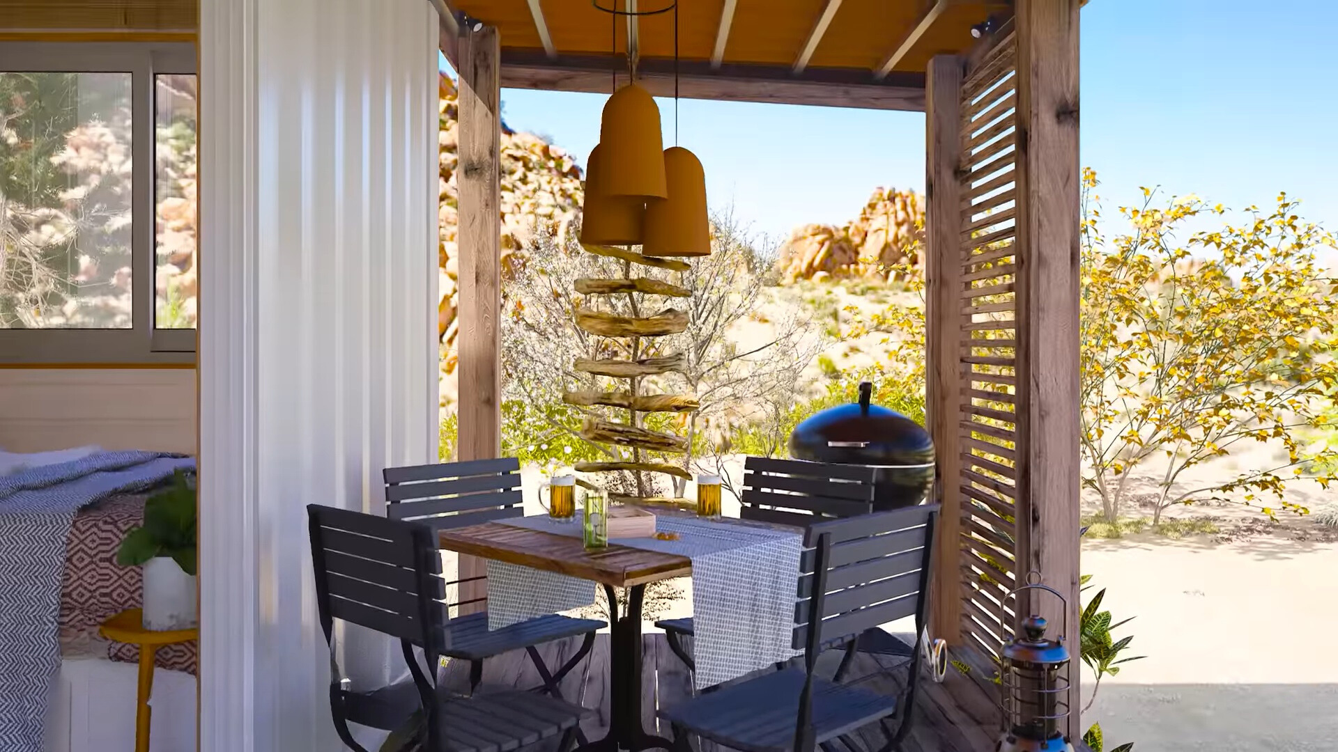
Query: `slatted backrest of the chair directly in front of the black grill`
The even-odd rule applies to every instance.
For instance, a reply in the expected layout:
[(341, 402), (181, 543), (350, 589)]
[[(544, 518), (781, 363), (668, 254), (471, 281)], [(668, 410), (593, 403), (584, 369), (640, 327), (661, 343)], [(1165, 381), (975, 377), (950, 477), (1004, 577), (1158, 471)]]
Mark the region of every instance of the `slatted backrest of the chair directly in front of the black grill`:
[(874, 467), (771, 458), (744, 460), (740, 516), (804, 527), (816, 518), (872, 511)]

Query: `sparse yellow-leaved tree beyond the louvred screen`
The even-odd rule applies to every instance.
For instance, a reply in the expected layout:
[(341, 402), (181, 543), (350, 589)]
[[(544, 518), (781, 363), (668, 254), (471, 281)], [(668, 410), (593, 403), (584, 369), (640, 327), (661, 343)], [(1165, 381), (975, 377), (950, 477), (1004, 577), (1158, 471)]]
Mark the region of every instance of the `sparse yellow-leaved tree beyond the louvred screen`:
[[(1248, 207), (1238, 225), (1220, 205), (1156, 205), (1156, 191), (1144, 190), (1141, 207), (1121, 209), (1128, 231), (1108, 240), (1096, 174), (1082, 178), (1082, 484), (1101, 515), (1124, 514), (1136, 472), (1153, 474), (1153, 525), (1175, 504), (1206, 499), (1270, 516), (1307, 512), (1284, 498), (1288, 482), (1327, 484), (1326, 468), (1338, 467), (1338, 454), (1311, 439), (1331, 420), (1338, 387), (1338, 290), (1317, 260), (1338, 245), (1334, 236), (1303, 222), (1286, 194), (1268, 210)], [(1206, 221), (1222, 229), (1188, 230)], [(882, 368), (923, 389), (923, 273), (899, 272), (909, 294), (874, 314), (850, 309), (844, 335), (886, 333)], [(1286, 458), (1181, 482), (1185, 470), (1247, 442), (1274, 442)]]

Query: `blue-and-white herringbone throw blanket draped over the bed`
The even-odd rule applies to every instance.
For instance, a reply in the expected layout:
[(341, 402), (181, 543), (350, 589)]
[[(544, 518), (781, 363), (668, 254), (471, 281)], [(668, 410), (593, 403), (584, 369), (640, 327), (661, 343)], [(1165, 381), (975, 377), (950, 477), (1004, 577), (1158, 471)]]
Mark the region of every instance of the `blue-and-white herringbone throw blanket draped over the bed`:
[(60, 583), (75, 512), (194, 467), (182, 455), (99, 452), (0, 478), (0, 749), (41, 752), (60, 670)]

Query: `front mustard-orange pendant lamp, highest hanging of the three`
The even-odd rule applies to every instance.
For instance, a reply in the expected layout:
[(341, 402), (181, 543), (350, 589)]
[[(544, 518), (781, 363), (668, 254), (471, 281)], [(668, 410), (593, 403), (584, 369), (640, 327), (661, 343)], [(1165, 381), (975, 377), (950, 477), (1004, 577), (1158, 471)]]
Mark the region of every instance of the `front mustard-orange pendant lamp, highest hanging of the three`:
[(636, 83), (613, 92), (599, 120), (599, 146), (606, 159), (607, 195), (665, 198), (664, 140), (660, 136), (660, 106)]

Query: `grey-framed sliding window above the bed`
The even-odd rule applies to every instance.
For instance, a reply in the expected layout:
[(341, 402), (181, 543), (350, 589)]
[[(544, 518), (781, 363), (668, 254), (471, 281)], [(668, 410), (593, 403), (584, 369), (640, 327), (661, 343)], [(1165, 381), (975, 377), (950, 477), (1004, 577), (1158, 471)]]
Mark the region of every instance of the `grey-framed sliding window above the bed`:
[(195, 349), (195, 51), (0, 43), (0, 363)]

